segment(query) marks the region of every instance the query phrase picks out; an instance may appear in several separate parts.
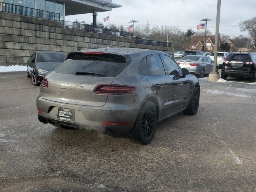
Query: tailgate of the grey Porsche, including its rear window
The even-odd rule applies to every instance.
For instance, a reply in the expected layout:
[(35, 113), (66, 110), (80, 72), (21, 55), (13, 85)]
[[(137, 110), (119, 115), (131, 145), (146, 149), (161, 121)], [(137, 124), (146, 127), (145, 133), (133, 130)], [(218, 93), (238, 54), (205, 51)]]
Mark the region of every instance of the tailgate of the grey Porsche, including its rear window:
[(112, 84), (124, 68), (126, 58), (122, 56), (76, 52), (46, 76), (48, 88), (42, 88), (42, 98), (68, 104), (103, 106), (108, 95), (94, 94), (94, 88), (99, 84)]

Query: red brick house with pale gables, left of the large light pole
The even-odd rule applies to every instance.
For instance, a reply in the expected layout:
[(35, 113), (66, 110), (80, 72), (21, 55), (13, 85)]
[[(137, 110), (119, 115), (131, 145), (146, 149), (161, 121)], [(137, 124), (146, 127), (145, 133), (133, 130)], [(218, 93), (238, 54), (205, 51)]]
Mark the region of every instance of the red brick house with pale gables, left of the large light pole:
[[(220, 39), (220, 38), (219, 38)], [(214, 51), (215, 35), (206, 36), (206, 52)], [(191, 38), (188, 44), (189, 50), (201, 50), (204, 51), (204, 36), (194, 36)], [(220, 44), (219, 44), (220, 47)]]

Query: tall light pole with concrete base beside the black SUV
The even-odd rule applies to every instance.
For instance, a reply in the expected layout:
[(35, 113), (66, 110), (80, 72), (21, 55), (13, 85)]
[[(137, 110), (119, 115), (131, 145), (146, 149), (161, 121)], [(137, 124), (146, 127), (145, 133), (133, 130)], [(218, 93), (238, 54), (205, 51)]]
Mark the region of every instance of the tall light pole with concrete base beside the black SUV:
[(219, 29), (220, 29), (220, 4), (221, 0), (218, 0), (217, 4), (217, 16), (216, 16), (216, 30), (215, 30), (215, 43), (214, 43), (214, 61), (213, 61), (213, 70), (209, 74), (209, 81), (217, 81), (220, 78), (219, 72), (216, 72), (217, 66), (217, 53), (218, 53), (218, 38), (219, 38)]

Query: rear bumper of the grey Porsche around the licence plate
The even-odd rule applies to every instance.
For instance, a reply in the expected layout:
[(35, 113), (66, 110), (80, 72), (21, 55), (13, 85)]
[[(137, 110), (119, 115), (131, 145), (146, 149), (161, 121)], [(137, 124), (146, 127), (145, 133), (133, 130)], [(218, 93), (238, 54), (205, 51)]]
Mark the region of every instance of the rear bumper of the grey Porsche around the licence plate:
[[(122, 134), (129, 132), (136, 121), (138, 107), (106, 103), (102, 107), (81, 106), (53, 102), (38, 96), (36, 101), (38, 116), (50, 124), (60, 124), (88, 130), (108, 129), (113, 133)], [(137, 105), (139, 106), (139, 105)], [(75, 110), (74, 121), (60, 120), (57, 118), (58, 109), (66, 108)], [(122, 110), (120, 110), (122, 109)], [(129, 122), (125, 125), (102, 125), (101, 122)]]

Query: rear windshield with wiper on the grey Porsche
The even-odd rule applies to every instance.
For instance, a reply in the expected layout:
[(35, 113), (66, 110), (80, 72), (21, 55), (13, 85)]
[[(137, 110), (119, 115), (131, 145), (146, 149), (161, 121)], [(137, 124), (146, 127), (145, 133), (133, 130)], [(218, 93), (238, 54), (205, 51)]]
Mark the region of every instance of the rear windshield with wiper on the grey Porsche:
[[(84, 76), (115, 77), (126, 68), (126, 59), (112, 54), (78, 54), (70, 57), (54, 72), (73, 74), (84, 72)], [(90, 73), (90, 74), (89, 74)]]

